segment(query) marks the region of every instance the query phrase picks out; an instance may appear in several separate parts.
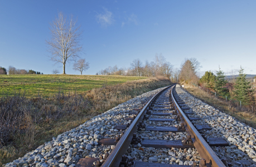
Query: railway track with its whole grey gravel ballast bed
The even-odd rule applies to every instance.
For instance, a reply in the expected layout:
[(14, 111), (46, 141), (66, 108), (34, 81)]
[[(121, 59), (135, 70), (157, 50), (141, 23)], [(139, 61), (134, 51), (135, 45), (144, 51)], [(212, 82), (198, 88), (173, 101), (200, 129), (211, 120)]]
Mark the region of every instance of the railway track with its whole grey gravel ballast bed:
[(256, 167), (255, 141), (253, 127), (172, 85), (125, 101), (3, 166)]

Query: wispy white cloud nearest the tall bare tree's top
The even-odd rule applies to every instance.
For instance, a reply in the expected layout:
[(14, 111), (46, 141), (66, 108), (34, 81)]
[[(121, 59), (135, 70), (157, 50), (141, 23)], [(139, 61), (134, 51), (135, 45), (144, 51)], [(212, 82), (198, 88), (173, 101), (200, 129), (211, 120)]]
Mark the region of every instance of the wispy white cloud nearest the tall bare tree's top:
[(107, 8), (103, 8), (104, 12), (102, 14), (96, 14), (96, 20), (103, 27), (107, 27), (114, 22), (113, 13), (108, 11)]

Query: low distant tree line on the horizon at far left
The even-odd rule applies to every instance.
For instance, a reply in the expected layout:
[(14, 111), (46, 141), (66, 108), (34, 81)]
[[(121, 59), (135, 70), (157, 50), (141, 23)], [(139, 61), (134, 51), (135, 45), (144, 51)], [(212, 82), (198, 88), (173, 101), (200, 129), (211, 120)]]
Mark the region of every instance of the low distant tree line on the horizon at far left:
[(4, 67), (0, 67), (0, 75), (15, 75), (15, 74), (44, 74), (39, 71), (34, 70), (24, 70), (24, 69), (18, 69), (13, 66), (9, 66), (8, 69)]

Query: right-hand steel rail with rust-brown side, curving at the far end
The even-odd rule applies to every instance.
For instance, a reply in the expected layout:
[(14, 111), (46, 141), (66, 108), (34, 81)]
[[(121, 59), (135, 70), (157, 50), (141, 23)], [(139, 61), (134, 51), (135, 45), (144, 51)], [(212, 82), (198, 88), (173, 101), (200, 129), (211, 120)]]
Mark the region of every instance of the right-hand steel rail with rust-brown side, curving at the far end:
[[(176, 86), (176, 85), (175, 85)], [(214, 153), (214, 151), (211, 149), (211, 147), (206, 143), (204, 138), (200, 135), (200, 133), (197, 131), (195, 126), (190, 122), (189, 118), (184, 114), (184, 112), (181, 110), (180, 106), (178, 106), (174, 96), (173, 96), (173, 86), (171, 89), (171, 95), (172, 95), (172, 102), (175, 104), (178, 110), (178, 115), (181, 117), (181, 121), (184, 123), (186, 127), (186, 131), (188, 134), (191, 135), (192, 141), (194, 143), (195, 148), (199, 152), (199, 155), (201, 158), (206, 160), (207, 167), (217, 167), (217, 166), (223, 166), (223, 162), (219, 159), (219, 157)]]

